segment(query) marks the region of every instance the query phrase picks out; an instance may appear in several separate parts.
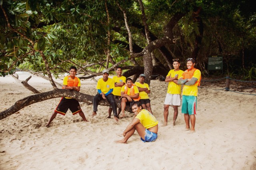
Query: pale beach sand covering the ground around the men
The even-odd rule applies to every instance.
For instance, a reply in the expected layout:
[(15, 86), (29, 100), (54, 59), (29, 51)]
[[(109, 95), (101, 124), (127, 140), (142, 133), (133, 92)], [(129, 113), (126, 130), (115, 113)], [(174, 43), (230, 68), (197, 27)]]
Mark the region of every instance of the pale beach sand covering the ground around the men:
[[(28, 76), (19, 74), (19, 79)], [(40, 92), (53, 90), (50, 82), (36, 76), (28, 84)], [(128, 144), (116, 144), (132, 114), (116, 124), (106, 119), (108, 106), (98, 106), (98, 115), (90, 118), (92, 105), (80, 103), (90, 122), (68, 111), (58, 114), (50, 128), (45, 125), (60, 98), (27, 106), (0, 120), (0, 170), (256, 170), (256, 96), (201, 84), (196, 132), (190, 134), (181, 107), (176, 126), (171, 107), (168, 126), (162, 126), (168, 83), (151, 81), (151, 108), (159, 130), (157, 140), (148, 143), (135, 132)], [(94, 81), (84, 80), (80, 92), (95, 95), (95, 87)], [(0, 89), (0, 111), (33, 95), (11, 76), (0, 77)]]

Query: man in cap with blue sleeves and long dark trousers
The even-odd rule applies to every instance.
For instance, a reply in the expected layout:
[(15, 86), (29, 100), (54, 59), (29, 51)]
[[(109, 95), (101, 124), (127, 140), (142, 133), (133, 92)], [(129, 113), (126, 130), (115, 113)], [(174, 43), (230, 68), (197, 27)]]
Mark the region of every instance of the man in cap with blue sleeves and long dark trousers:
[(98, 90), (98, 94), (93, 98), (93, 112), (92, 117), (97, 114), (98, 104), (100, 100), (107, 99), (108, 103), (112, 106), (114, 112), (114, 120), (118, 122), (117, 111), (116, 111), (116, 101), (114, 99), (114, 95), (112, 94), (114, 88), (114, 80), (112, 78), (108, 78), (108, 70), (102, 71), (103, 78), (100, 78), (97, 82), (96, 89)]

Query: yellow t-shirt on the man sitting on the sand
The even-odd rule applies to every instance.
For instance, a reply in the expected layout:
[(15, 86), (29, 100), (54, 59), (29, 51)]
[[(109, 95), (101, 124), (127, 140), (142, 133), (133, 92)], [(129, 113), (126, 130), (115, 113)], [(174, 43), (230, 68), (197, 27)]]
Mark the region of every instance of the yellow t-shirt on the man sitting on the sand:
[(140, 119), (140, 123), (146, 128), (152, 128), (158, 124), (155, 116), (148, 112), (148, 110), (142, 109), (135, 118)]

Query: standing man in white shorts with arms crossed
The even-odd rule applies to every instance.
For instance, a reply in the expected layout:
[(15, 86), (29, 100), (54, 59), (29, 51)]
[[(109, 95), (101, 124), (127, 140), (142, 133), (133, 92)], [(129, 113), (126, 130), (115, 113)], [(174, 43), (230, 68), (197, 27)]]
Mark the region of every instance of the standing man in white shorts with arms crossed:
[(173, 68), (170, 70), (165, 78), (165, 82), (168, 83), (167, 94), (164, 100), (164, 125), (168, 124), (168, 114), (169, 106), (173, 107), (173, 121), (172, 125), (175, 125), (177, 116), (178, 116), (178, 107), (181, 105), (180, 94), (181, 94), (181, 85), (178, 84), (178, 79), (182, 76), (183, 71), (180, 70), (180, 61), (178, 58), (175, 58), (173, 61)]

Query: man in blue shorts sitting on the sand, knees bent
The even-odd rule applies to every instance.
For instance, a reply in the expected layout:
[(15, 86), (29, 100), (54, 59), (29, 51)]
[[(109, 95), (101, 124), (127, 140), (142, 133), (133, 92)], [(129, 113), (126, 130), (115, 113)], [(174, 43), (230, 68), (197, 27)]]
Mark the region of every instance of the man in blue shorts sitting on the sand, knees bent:
[(132, 102), (131, 105), (132, 112), (136, 117), (124, 130), (124, 138), (116, 142), (127, 144), (127, 140), (134, 134), (135, 130), (137, 130), (143, 142), (154, 142), (158, 132), (158, 121), (155, 116), (148, 110), (142, 109), (140, 102)]

